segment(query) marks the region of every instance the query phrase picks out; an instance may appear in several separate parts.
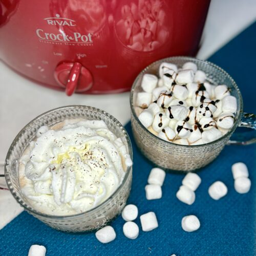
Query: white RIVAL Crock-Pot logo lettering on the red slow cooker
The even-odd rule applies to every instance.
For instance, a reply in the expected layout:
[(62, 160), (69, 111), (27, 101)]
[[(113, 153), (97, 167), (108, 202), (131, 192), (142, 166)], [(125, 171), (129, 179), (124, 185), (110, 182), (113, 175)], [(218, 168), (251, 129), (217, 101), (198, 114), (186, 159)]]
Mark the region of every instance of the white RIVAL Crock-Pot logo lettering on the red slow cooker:
[[(51, 26), (69, 26), (75, 27), (75, 20), (68, 18), (61, 18), (59, 14), (56, 14), (56, 17), (44, 18), (48, 25)], [(47, 33), (44, 29), (37, 29), (36, 35), (40, 42), (45, 42), (47, 44), (56, 44), (56, 45), (81, 45), (88, 46), (93, 44), (92, 34), (81, 34), (79, 32), (73, 32), (67, 34), (60, 28), (58, 29), (60, 33)]]

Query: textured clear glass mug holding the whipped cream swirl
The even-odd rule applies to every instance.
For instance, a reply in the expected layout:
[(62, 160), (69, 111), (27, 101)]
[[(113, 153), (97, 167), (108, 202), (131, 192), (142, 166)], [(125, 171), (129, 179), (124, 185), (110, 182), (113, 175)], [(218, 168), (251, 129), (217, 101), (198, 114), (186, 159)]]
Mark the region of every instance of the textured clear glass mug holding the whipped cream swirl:
[[(80, 214), (69, 216), (54, 216), (43, 214), (34, 209), (26, 197), (20, 191), (18, 177), (18, 163), (29, 142), (35, 138), (36, 132), (42, 125), (52, 126), (65, 119), (86, 118), (90, 120), (103, 120), (108, 128), (120, 137), (131, 158), (133, 156), (132, 145), (128, 134), (122, 124), (105, 111), (91, 106), (71, 105), (50, 110), (29, 122), (18, 133), (12, 142), (5, 160), (5, 179), (8, 189), (16, 201), (34, 217), (51, 226), (52, 228), (68, 231), (83, 232), (98, 229), (116, 217), (125, 206), (130, 195), (132, 185), (132, 167), (127, 167), (123, 181), (112, 196), (93, 209)], [(2, 175), (3, 176), (3, 175)], [(0, 185), (1, 186), (1, 185)]]

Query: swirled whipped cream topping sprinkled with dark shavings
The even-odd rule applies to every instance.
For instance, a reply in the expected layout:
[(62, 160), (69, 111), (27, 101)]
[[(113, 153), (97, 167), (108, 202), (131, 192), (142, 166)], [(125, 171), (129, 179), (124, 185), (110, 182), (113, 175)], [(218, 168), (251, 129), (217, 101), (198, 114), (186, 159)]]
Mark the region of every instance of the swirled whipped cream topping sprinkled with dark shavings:
[(22, 192), (45, 214), (92, 209), (121, 184), (132, 160), (121, 138), (101, 120), (42, 126), (19, 163)]

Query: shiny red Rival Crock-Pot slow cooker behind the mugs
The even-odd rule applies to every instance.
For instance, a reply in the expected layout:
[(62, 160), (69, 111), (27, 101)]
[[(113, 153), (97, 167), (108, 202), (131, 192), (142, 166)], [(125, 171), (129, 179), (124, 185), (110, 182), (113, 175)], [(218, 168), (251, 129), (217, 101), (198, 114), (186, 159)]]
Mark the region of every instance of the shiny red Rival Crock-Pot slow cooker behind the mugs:
[(0, 58), (68, 95), (130, 90), (151, 62), (195, 55), (210, 0), (1, 0)]

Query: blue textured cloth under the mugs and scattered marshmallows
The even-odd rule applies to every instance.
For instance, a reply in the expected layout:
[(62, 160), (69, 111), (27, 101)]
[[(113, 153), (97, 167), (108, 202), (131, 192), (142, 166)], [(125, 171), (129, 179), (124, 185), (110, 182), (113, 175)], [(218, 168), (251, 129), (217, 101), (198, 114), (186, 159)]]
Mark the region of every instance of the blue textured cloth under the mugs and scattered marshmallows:
[[(255, 112), (255, 45), (256, 24), (253, 24), (209, 59), (237, 81), (247, 112)], [(136, 147), (131, 123), (125, 127), (134, 150), (133, 184), (127, 203), (136, 204), (139, 215), (154, 211), (159, 227), (143, 232), (137, 218), (140, 234), (136, 240), (130, 240), (122, 233), (124, 220), (119, 216), (111, 223), (117, 233), (116, 240), (101, 244), (94, 232), (63, 233), (23, 212), (0, 230), (0, 255), (27, 255), (32, 244), (46, 246), (47, 255), (255, 255), (255, 145), (226, 146), (214, 162), (202, 168), (198, 172), (202, 183), (193, 205), (186, 205), (175, 196), (182, 174), (167, 174), (162, 199), (147, 201), (144, 186), (153, 165)], [(244, 195), (233, 187), (231, 165), (238, 161), (248, 166), (252, 182), (249, 193)], [(208, 195), (208, 187), (217, 180), (228, 187), (227, 196), (219, 201)], [(199, 218), (201, 228), (189, 233), (182, 230), (181, 219), (191, 214)]]

